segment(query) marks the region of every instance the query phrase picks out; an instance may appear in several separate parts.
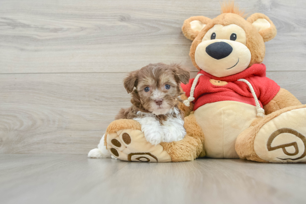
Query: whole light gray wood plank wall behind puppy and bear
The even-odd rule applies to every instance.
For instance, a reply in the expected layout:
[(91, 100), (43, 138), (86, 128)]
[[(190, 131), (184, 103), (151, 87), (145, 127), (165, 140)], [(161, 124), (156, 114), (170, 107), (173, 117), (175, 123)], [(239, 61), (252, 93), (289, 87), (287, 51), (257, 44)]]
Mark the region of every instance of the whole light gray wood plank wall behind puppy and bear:
[[(236, 3), (274, 22), (267, 76), (305, 104), (306, 2)], [(130, 104), (126, 72), (180, 62), (194, 77), (182, 23), (219, 14), (219, 0), (1, 0), (0, 153), (86, 154)]]

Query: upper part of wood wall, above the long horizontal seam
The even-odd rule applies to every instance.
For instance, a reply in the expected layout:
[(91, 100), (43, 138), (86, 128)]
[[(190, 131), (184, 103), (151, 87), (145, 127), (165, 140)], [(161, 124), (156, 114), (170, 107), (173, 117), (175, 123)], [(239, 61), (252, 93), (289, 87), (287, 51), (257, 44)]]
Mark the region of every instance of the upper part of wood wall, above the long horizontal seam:
[[(266, 14), (278, 29), (266, 43), (269, 71), (306, 70), (306, 1), (236, 3)], [(126, 72), (149, 62), (195, 71), (183, 21), (219, 14), (220, 0), (2, 0), (0, 73)]]

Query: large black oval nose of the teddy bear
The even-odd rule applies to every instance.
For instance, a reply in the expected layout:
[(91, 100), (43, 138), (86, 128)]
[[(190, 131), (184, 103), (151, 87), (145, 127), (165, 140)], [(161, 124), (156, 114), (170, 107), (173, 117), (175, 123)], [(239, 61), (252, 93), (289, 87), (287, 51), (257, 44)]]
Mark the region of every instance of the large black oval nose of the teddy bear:
[(232, 46), (226, 42), (214, 42), (206, 47), (206, 53), (215, 59), (223, 59), (231, 54)]

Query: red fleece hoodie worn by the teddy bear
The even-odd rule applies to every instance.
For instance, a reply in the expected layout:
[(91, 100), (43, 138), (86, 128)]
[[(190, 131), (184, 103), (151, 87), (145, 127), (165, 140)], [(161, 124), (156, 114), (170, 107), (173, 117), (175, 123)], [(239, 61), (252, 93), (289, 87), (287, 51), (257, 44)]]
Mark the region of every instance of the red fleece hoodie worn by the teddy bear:
[[(261, 107), (269, 103), (280, 89), (277, 83), (266, 77), (264, 64), (253, 64), (244, 71), (227, 77), (215, 77), (203, 70), (198, 74), (204, 75), (200, 76), (195, 86), (194, 111), (206, 103), (218, 101), (238, 101), (256, 106), (249, 86), (244, 82), (237, 81), (241, 78), (251, 83)], [(193, 81), (194, 78), (190, 79), (186, 85), (181, 84), (187, 97), (190, 96)]]

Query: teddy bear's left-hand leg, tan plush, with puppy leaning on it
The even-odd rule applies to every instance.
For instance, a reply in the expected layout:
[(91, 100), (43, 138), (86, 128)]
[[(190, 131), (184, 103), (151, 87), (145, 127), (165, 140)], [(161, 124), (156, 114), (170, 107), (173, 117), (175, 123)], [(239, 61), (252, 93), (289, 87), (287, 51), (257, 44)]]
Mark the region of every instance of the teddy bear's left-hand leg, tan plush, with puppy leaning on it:
[(111, 155), (124, 161), (178, 162), (204, 156), (204, 136), (192, 114), (185, 117), (185, 129), (183, 140), (151, 145), (137, 121), (120, 119), (107, 127), (105, 144)]

